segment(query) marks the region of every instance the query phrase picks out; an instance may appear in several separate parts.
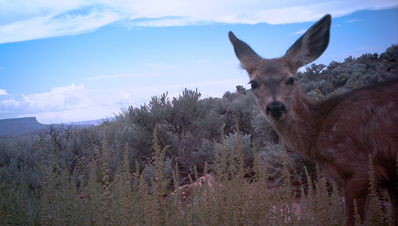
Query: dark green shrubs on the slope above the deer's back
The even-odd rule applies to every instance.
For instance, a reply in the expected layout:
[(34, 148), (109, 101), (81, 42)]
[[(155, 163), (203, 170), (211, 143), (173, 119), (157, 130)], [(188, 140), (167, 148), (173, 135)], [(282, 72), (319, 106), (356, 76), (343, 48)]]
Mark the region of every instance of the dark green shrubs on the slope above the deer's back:
[(397, 78), (398, 45), (377, 55), (363, 54), (357, 59), (348, 57), (344, 62), (331, 62), (328, 66), (311, 64), (305, 72), (298, 72), (297, 81), (304, 93), (314, 96), (314, 90), (324, 97), (338, 91), (345, 92), (364, 85), (371, 85)]

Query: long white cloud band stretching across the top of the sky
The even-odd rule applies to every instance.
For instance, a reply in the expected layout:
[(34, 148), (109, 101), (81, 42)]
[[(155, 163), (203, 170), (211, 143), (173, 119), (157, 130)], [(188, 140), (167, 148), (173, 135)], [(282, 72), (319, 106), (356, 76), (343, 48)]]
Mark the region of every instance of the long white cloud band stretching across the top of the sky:
[(117, 22), (126, 27), (210, 23), (317, 21), (326, 13), (341, 17), (360, 10), (397, 8), (396, 0), (295, 0), (249, 3), (240, 0), (1, 1), (0, 43), (76, 35)]

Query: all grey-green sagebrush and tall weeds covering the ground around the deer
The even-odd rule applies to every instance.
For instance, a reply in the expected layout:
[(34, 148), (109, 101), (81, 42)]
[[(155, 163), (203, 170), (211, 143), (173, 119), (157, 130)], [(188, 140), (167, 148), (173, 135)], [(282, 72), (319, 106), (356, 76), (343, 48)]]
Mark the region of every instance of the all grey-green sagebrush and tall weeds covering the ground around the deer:
[[(397, 58), (392, 45), (380, 56), (311, 64), (297, 81), (314, 98), (333, 97), (396, 78)], [(251, 90), (200, 97), (166, 93), (99, 126), (0, 141), (1, 224), (343, 224), (338, 186), (286, 150)], [(369, 224), (393, 225), (385, 192), (371, 187)]]

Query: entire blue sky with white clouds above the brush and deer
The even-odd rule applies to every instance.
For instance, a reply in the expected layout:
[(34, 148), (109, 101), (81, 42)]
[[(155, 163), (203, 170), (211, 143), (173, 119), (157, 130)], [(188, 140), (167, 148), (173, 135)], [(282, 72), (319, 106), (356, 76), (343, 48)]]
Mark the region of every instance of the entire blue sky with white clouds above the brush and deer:
[(0, 119), (102, 119), (185, 88), (222, 97), (250, 87), (229, 31), (277, 58), (327, 13), (317, 64), (397, 43), (396, 0), (0, 0)]

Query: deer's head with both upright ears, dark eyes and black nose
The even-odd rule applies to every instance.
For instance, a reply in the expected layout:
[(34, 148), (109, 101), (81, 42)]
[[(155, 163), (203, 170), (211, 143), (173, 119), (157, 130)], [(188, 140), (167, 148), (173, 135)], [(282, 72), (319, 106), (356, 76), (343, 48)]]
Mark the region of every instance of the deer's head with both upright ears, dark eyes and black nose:
[(248, 72), (256, 102), (273, 123), (291, 116), (294, 97), (301, 94), (294, 75), (298, 68), (315, 61), (329, 44), (332, 17), (316, 22), (281, 58), (263, 59), (232, 32), (228, 36), (241, 66)]

